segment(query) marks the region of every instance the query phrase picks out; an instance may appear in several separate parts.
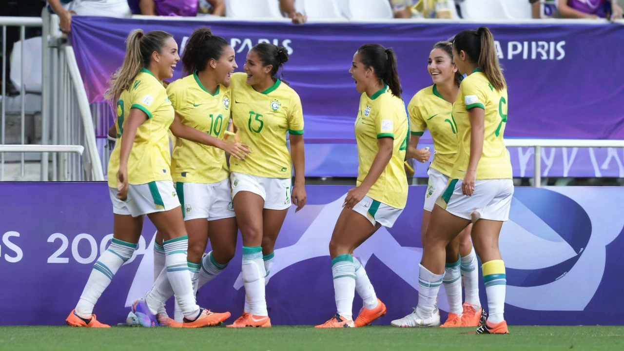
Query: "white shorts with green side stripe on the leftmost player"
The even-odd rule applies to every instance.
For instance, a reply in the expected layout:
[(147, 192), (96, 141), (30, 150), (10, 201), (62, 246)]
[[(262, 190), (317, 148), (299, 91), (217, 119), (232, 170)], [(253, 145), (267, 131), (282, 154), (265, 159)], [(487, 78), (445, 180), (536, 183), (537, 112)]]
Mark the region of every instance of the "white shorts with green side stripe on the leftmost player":
[(171, 180), (158, 180), (147, 184), (129, 184), (125, 201), (117, 199), (117, 189), (109, 187), (113, 213), (132, 215), (163, 212), (180, 206), (180, 200)]

